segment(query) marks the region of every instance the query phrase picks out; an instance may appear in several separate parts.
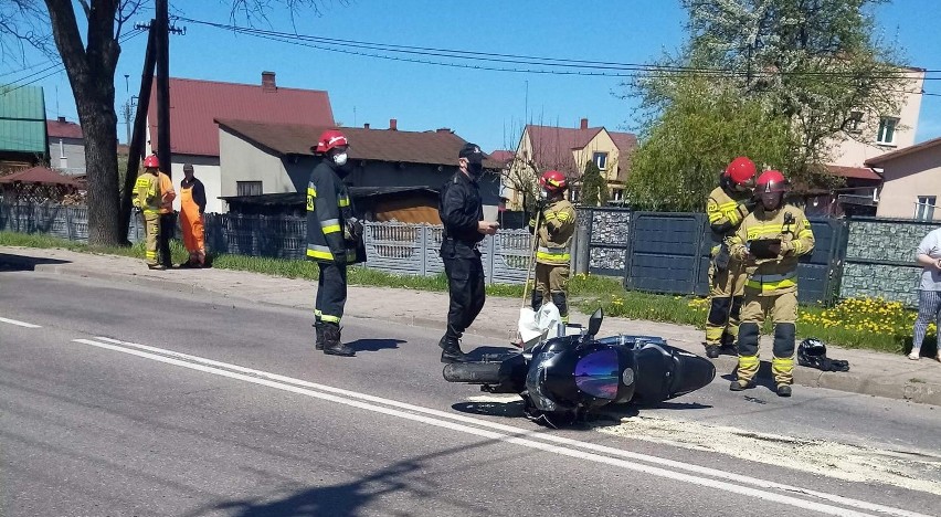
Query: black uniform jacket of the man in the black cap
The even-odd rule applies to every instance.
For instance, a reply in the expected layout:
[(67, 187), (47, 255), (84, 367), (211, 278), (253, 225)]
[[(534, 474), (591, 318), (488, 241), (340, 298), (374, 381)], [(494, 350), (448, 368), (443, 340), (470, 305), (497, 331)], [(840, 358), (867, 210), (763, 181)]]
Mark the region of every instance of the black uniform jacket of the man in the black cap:
[(453, 241), (463, 244), (456, 247), (458, 254), (465, 258), (473, 257), (469, 252), (484, 240), (484, 234), (477, 231), (478, 223), (484, 220), (484, 203), (477, 182), (458, 170), (441, 187), (437, 213), (444, 225), (442, 249)]

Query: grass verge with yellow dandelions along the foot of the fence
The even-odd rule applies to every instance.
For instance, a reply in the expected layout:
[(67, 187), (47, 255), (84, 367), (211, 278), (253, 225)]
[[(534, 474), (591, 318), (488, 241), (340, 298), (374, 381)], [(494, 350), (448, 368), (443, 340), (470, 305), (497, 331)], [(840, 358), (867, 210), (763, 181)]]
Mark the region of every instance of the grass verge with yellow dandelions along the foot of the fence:
[[(59, 247), (82, 253), (102, 253), (144, 258), (144, 245), (128, 247), (96, 247), (44, 234), (0, 232), (0, 245), (36, 249)], [(181, 263), (187, 252), (178, 241), (171, 242), (173, 262)], [(221, 254), (212, 257), (212, 266), (221, 270), (246, 271), (288, 278), (317, 279), (317, 265), (310, 261), (254, 257)], [(415, 291), (447, 291), (444, 274), (435, 276), (395, 275), (366, 267), (349, 272), (352, 285), (394, 287)], [(490, 296), (522, 297), (522, 285), (495, 284), (487, 286)], [(574, 275), (569, 283), (573, 307), (591, 314), (602, 308), (605, 315), (631, 319), (675, 323), (705, 328), (708, 300), (701, 297), (659, 295), (628, 292), (620, 278), (595, 275)], [(816, 337), (824, 342), (847, 348), (865, 348), (894, 354), (911, 348), (916, 313), (897, 303), (878, 299), (848, 299), (834, 307), (802, 306), (799, 309), (797, 334)], [(770, 333), (770, 326), (765, 326)], [(934, 326), (929, 327), (924, 346), (934, 342)], [(765, 338), (765, 341), (768, 339)]]

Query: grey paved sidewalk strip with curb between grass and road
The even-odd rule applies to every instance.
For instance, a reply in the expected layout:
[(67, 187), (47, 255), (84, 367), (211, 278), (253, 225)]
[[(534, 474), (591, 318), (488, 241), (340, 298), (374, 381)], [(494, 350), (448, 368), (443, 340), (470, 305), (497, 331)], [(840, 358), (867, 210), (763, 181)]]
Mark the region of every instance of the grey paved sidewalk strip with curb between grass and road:
[[(85, 268), (75, 263), (71, 264), (36, 264), (35, 261), (29, 258), (20, 258), (20, 257), (4, 257), (4, 262), (12, 265), (28, 265), (32, 266), (33, 271), (41, 273), (52, 273), (56, 275), (63, 276), (77, 276), (82, 278), (98, 278), (106, 279), (112, 282), (139, 285), (144, 287), (157, 288), (160, 291), (167, 291), (172, 293), (184, 293), (184, 294), (204, 294), (212, 296), (222, 296), (225, 298), (240, 299), (243, 302), (255, 303), (260, 305), (265, 305), (269, 307), (290, 307), (290, 308), (304, 308), (297, 307), (293, 304), (284, 304), (276, 302), (267, 302), (267, 300), (258, 300), (251, 297), (243, 297), (239, 295), (234, 295), (232, 293), (221, 292), (216, 289), (212, 289), (209, 287), (195, 286), (188, 282), (180, 282), (173, 278), (149, 278), (145, 276), (137, 275), (127, 275), (123, 273), (108, 273), (102, 272), (93, 268)], [(358, 318), (358, 319), (379, 319), (374, 314), (356, 314), (348, 313), (348, 316)], [(445, 329), (445, 324), (441, 320), (441, 318), (425, 318), (425, 317), (415, 317), (412, 316), (405, 321), (400, 321), (408, 326), (429, 328), (434, 330), (443, 331)], [(479, 328), (474, 329), (474, 331), (469, 333), (470, 335), (487, 338), (487, 339), (496, 339), (499, 340), (500, 345), (509, 345), (507, 339), (507, 331), (500, 329), (487, 329)], [(701, 345), (696, 342), (686, 342), (677, 340), (670, 340), (670, 344), (677, 346), (679, 348), (684, 348), (694, 354), (701, 355), (702, 349)], [(929, 359), (930, 360), (930, 359)], [(720, 356), (717, 359), (712, 360), (716, 365), (717, 374), (718, 376), (727, 376), (734, 371), (738, 361), (732, 356)], [(766, 376), (762, 372), (759, 374), (760, 379), (766, 379)], [(941, 383), (933, 381), (924, 381), (918, 379), (917, 372), (911, 372), (911, 377), (908, 380), (902, 381), (901, 379), (896, 377), (864, 377), (858, 373), (855, 373), (852, 368), (848, 372), (824, 372), (810, 368), (797, 367), (794, 370), (794, 383), (797, 386), (812, 387), (812, 388), (825, 388), (836, 391), (867, 394), (873, 397), (882, 397), (889, 399), (897, 400), (908, 400), (911, 402), (918, 402), (923, 404), (931, 405), (941, 405)]]

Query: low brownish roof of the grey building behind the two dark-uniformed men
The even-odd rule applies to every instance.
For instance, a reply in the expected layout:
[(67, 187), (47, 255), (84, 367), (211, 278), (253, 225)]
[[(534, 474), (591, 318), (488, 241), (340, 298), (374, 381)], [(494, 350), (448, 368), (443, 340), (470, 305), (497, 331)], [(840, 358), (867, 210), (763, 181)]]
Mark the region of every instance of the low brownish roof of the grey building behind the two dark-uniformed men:
[[(311, 155), (310, 146), (325, 129), (335, 126), (269, 124), (250, 120), (216, 119), (220, 127), (260, 144), (281, 155)], [(466, 141), (451, 131), (399, 131), (341, 127), (350, 141), (351, 160), (404, 163), (457, 165), (457, 154)], [(499, 169), (503, 163), (485, 159), (484, 167)]]

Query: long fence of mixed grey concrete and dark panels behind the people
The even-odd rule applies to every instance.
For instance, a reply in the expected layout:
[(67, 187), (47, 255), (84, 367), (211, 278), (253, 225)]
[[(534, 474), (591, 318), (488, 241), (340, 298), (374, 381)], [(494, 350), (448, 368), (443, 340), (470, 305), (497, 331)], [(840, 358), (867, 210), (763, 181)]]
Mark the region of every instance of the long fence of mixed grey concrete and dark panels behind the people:
[[(800, 299), (829, 304), (866, 296), (917, 305), (921, 267), (914, 249), (934, 223), (875, 218), (811, 219), (816, 246), (799, 265)], [(298, 217), (207, 214), (207, 247), (215, 253), (304, 258), (307, 221)], [(87, 209), (80, 205), (0, 202), (0, 230), (86, 241)], [(179, 231), (179, 230), (178, 230)], [(711, 239), (701, 213), (634, 212), (580, 208), (573, 271), (618, 276), (627, 288), (706, 294)], [(128, 240), (145, 238), (131, 218)], [(367, 223), (367, 267), (406, 275), (444, 271), (441, 226)], [(487, 282), (522, 283), (530, 256), (526, 230), (501, 230), (482, 242)]]

